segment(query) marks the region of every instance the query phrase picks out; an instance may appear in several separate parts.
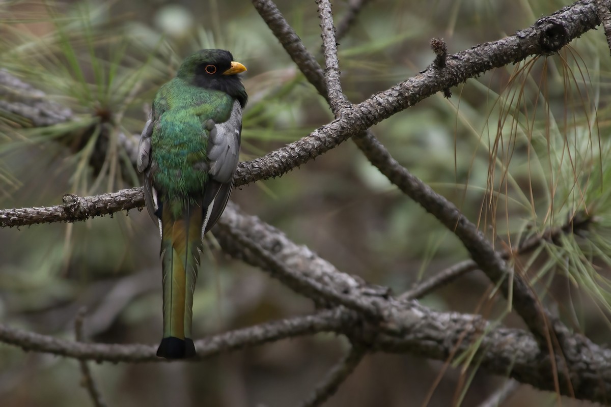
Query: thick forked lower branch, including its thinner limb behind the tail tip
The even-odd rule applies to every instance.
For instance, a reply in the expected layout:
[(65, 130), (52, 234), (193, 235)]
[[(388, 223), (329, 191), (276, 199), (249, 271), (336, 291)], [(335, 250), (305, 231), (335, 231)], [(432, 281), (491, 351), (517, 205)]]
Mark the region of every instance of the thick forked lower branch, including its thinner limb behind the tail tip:
[[(308, 317), (266, 323), (199, 340), (196, 345), (201, 358), (283, 337), (323, 331), (346, 334), (354, 343), (364, 344), (371, 350), (409, 352), (441, 360), (455, 354), (456, 346), (460, 351), (473, 351), (472, 346), (481, 340), (477, 351), (482, 353), (482, 366), (490, 372), (505, 375), (510, 371), (510, 375), (522, 383), (530, 383), (541, 389), (554, 389), (554, 373), (550, 366), (552, 360), (557, 363), (563, 359), (559, 355), (541, 353), (533, 336), (524, 331), (493, 328), (481, 317), (434, 312), (415, 303), (380, 296), (379, 292), (371, 292), (370, 286), (357, 278), (338, 272), (307, 247), (290, 242), (282, 232), (260, 222), (257, 217), (240, 214), (232, 204), (227, 207), (220, 223), (243, 231), (264, 250), (273, 253), (274, 258), (292, 269), (293, 273), (304, 276), (303, 281), (318, 282), (311, 284), (311, 290), (316, 291), (323, 284), (335, 293), (354, 295), (355, 301), (360, 301), (359, 297), (373, 297), (363, 301), (375, 304), (388, 326), (371, 325), (371, 322), (362, 320), (357, 312), (335, 308)], [(255, 265), (261, 264), (260, 258), (252, 253), (249, 255), (241, 245), (234, 242), (232, 246), (231, 236), (224, 234), (222, 228), (215, 229), (215, 235), (228, 253)], [(328, 291), (323, 294), (328, 294)], [(148, 345), (81, 344), (5, 326), (0, 326), (0, 340), (24, 350), (45, 351), (77, 359), (159, 361), (155, 356), (155, 347)], [(611, 351), (577, 334), (566, 340), (572, 346), (571, 351), (565, 351), (563, 355), (567, 371), (558, 372), (563, 379), (560, 392), (569, 394), (567, 383), (570, 380), (576, 397), (602, 400), (611, 391)]]

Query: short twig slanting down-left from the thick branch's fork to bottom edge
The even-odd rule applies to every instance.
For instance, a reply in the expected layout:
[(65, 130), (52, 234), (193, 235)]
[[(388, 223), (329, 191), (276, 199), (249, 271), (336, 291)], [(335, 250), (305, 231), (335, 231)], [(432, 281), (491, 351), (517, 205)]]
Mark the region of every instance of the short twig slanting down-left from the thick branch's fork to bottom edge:
[(318, 386), (302, 402), (301, 407), (316, 407), (322, 405), (326, 400), (337, 392), (340, 385), (354, 372), (360, 361), (367, 352), (365, 348), (353, 346), (348, 355), (342, 361), (332, 367)]

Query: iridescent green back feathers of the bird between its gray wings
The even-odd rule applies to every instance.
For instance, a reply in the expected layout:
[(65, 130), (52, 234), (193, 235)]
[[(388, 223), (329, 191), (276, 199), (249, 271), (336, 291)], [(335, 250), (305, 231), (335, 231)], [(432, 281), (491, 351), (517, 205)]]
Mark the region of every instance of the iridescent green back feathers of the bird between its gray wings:
[(229, 119), (232, 98), (173, 79), (159, 89), (153, 103), (155, 127), (151, 137), (156, 168), (153, 185), (170, 200), (194, 198), (208, 181), (208, 120)]

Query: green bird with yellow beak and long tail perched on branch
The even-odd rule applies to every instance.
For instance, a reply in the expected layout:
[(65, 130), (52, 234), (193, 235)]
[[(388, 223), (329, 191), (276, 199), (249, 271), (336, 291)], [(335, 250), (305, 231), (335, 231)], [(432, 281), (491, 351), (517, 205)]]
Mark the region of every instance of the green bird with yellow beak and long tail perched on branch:
[(203, 234), (225, 209), (238, 165), (246, 67), (222, 49), (185, 59), (157, 92), (140, 140), (149, 214), (161, 229), (163, 339), (157, 356), (196, 354), (193, 291)]

